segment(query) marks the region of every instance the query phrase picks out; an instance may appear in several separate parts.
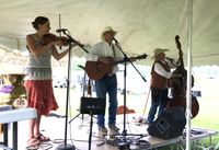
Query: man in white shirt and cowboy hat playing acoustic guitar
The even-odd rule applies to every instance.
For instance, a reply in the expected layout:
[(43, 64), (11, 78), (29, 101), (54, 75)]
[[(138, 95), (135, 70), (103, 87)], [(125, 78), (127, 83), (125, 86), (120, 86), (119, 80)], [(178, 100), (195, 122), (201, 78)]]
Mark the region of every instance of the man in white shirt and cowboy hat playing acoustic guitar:
[[(113, 44), (116, 31), (112, 26), (106, 26), (101, 33), (102, 42), (95, 44), (90, 54), (85, 56), (87, 60), (100, 61), (102, 64), (111, 65), (108, 57), (115, 61), (124, 59), (124, 55), (120, 49)], [(132, 61), (132, 60), (131, 60)], [(108, 93), (108, 128), (110, 134), (118, 132), (119, 128), (116, 127), (116, 112), (117, 112), (117, 78), (116, 72), (118, 66), (114, 65), (113, 70), (106, 73), (103, 78), (95, 80), (95, 92), (97, 97), (106, 99)], [(107, 128), (105, 127), (105, 115), (97, 115), (99, 135), (107, 135)]]

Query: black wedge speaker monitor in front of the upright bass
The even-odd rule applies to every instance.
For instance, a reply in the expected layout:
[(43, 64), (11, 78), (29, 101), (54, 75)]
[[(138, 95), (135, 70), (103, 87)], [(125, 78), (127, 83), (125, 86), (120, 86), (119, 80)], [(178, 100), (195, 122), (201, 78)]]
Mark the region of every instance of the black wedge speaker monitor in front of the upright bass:
[(183, 107), (176, 106), (165, 108), (149, 127), (148, 134), (161, 139), (178, 137), (186, 125), (185, 112)]

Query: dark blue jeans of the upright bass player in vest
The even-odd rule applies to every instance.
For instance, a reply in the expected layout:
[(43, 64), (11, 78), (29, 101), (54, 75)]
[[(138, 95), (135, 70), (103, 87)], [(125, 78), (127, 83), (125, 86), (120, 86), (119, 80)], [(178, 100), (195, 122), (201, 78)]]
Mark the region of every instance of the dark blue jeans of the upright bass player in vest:
[(168, 104), (168, 89), (151, 88), (151, 106), (148, 114), (148, 123), (152, 124), (159, 107), (158, 117), (163, 113)]

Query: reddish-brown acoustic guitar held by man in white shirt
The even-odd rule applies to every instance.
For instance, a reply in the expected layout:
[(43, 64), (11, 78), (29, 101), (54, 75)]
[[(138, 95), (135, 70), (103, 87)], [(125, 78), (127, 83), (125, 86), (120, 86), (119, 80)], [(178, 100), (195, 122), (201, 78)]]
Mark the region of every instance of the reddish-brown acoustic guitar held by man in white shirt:
[[(135, 60), (145, 59), (147, 57), (146, 54), (134, 57)], [(119, 61), (115, 61), (113, 57), (107, 57), (110, 64), (104, 64), (101, 61), (87, 61), (85, 62), (85, 71), (90, 79), (99, 80), (103, 78), (106, 73), (111, 73), (113, 71), (113, 67), (117, 64), (123, 64), (129, 61), (129, 59), (123, 59)]]

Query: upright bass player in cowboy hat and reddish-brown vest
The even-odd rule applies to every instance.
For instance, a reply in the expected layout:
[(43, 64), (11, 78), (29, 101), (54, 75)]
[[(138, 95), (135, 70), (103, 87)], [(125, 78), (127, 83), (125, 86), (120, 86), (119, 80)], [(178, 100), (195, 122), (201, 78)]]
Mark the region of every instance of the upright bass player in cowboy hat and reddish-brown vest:
[[(162, 114), (168, 104), (168, 80), (172, 77), (171, 68), (176, 67), (165, 59), (165, 51), (169, 49), (155, 48), (153, 50), (154, 62), (151, 69), (151, 106), (148, 114), (148, 124), (151, 125), (154, 120), (157, 109), (159, 107), (158, 117)], [(171, 68), (170, 68), (171, 67)]]

